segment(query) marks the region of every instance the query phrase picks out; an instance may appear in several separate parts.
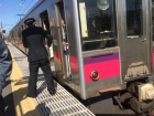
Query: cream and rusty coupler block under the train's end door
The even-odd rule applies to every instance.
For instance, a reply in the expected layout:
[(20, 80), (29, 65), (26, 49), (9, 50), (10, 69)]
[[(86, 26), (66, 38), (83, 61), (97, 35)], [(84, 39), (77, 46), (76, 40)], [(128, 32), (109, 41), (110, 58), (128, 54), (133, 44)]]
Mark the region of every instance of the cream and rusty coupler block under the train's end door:
[[(150, 83), (134, 83), (130, 86), (134, 96), (130, 99), (131, 108), (138, 113), (150, 112), (154, 108), (154, 85)], [(129, 89), (130, 89), (129, 88)]]

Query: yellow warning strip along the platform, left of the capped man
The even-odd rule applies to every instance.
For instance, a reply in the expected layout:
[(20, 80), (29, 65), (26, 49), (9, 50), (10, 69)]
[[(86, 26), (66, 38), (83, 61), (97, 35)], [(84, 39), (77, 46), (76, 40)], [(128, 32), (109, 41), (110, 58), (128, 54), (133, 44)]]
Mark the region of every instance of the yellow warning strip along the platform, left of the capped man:
[(13, 55), (12, 74), (10, 76), (10, 80), (16, 116), (41, 116), (34, 98), (26, 97), (28, 84), (25, 83)]

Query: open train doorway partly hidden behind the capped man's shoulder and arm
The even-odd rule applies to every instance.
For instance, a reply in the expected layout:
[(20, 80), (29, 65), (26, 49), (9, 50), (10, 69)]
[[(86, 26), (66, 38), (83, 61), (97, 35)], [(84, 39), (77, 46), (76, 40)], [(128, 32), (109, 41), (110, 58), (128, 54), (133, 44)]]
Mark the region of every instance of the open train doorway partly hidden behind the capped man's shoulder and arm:
[[(51, 30), (50, 30), (50, 21), (48, 21), (48, 13), (47, 11), (44, 11), (43, 13), (41, 13), (41, 21), (42, 21), (42, 28), (47, 31), (51, 34)], [(45, 42), (46, 43), (46, 42)], [(50, 49), (47, 49), (48, 54), (50, 54), (50, 60), (52, 61), (53, 59), (53, 44), (51, 45)]]

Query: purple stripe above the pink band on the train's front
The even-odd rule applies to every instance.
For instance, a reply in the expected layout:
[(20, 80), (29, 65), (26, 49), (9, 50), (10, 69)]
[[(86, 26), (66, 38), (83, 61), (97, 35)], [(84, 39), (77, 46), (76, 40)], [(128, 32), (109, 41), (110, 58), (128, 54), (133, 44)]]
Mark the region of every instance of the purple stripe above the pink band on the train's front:
[(106, 61), (112, 61), (112, 60), (118, 60), (119, 59), (119, 52), (113, 53), (111, 55), (102, 55), (98, 57), (84, 57), (84, 64), (94, 64), (94, 63), (99, 63), (99, 62), (106, 62)]

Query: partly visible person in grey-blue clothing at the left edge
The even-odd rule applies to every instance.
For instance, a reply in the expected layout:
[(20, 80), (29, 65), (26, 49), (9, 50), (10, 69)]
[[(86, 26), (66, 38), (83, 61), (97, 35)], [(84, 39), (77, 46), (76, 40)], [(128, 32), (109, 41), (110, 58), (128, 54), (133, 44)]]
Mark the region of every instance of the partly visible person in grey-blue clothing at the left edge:
[(12, 57), (11, 54), (0, 35), (0, 116), (4, 116), (4, 101), (2, 97), (2, 87), (4, 85), (4, 78), (10, 76), (12, 72)]

